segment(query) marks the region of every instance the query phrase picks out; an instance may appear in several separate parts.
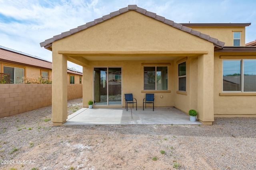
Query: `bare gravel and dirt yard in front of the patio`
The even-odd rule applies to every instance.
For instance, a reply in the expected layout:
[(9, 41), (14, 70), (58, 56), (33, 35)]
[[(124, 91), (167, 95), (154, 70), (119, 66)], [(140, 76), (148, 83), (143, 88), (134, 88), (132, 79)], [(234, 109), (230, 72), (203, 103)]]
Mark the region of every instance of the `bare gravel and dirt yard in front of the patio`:
[[(68, 114), (80, 108), (81, 98), (68, 101)], [(1, 170), (256, 169), (256, 118), (57, 127), (51, 109), (0, 118)]]

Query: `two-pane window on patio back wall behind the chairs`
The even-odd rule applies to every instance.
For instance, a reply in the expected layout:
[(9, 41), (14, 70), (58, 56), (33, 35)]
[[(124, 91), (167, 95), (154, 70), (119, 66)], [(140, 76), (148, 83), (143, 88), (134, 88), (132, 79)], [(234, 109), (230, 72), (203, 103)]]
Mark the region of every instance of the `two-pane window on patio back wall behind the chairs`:
[(144, 66), (144, 90), (168, 90), (168, 67)]

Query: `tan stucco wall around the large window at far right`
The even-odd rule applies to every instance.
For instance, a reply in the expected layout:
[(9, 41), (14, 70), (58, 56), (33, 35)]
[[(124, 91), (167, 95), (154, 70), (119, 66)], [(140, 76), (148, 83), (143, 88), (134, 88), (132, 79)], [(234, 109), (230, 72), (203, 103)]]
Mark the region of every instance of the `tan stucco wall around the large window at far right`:
[[(214, 117), (256, 117), (255, 92), (222, 93), (221, 55), (228, 54), (216, 53), (214, 56)], [(241, 59), (248, 57), (252, 56), (243, 56)]]

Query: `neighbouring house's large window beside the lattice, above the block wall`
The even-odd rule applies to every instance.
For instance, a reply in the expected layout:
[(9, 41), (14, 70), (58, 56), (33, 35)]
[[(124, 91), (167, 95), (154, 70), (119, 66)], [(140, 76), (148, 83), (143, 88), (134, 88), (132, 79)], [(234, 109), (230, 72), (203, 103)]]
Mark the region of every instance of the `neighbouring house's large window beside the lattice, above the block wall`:
[(10, 73), (11, 84), (19, 84), (23, 82), (24, 68), (4, 66), (4, 73)]

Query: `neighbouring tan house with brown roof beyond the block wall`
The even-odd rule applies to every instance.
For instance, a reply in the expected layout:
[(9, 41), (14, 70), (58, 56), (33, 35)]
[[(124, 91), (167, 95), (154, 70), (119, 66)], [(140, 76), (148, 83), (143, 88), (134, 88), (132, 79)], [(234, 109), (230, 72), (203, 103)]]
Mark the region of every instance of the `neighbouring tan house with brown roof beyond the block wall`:
[[(10, 83), (22, 83), (23, 77), (52, 80), (52, 62), (0, 46), (0, 73), (10, 74)], [(68, 68), (67, 82), (82, 84), (82, 72)]]

